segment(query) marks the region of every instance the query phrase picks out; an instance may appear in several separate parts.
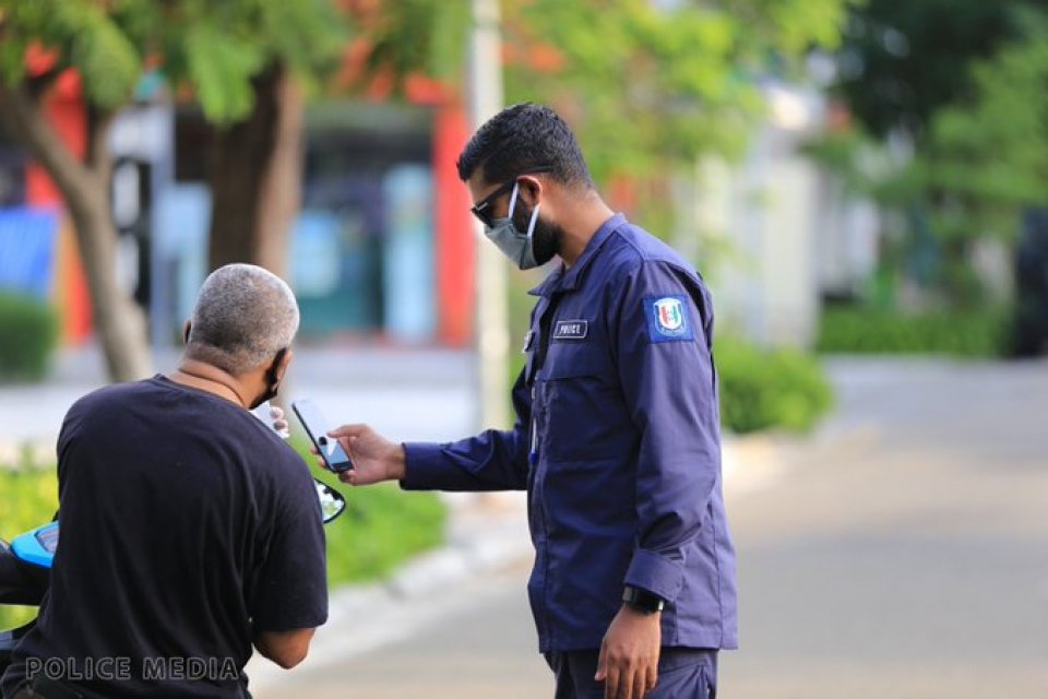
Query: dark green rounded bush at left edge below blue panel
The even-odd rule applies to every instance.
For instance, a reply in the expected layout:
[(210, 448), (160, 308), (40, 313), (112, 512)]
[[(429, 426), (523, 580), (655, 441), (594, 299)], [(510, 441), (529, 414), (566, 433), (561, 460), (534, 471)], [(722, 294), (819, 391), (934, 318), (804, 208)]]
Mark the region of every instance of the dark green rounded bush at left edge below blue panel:
[(0, 381), (43, 379), (57, 341), (58, 318), (50, 306), (0, 293)]

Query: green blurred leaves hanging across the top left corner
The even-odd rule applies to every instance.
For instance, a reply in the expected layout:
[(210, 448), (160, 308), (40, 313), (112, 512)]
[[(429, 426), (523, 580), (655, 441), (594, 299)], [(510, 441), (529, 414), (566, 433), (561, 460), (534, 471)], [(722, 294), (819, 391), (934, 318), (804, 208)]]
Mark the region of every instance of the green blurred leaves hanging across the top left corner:
[(114, 110), (159, 60), (218, 123), (251, 111), (252, 80), (276, 63), (306, 78), (334, 71), (349, 36), (333, 0), (0, 0), (0, 22), (8, 83), (32, 78), (25, 57), (39, 46), (55, 69), (80, 71), (92, 104)]

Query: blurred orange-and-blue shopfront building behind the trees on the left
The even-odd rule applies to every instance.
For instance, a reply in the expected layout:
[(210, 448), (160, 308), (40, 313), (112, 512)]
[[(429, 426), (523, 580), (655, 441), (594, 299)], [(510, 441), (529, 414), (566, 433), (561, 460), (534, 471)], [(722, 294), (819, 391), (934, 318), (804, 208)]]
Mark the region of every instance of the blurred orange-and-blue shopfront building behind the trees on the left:
[[(469, 341), (472, 218), (454, 168), (467, 123), (441, 97), (446, 90), (426, 87), (414, 104), (308, 108), (288, 250), (306, 339)], [(50, 117), (74, 149), (83, 110), (75, 83), (52, 97)], [(147, 311), (154, 344), (177, 342), (209, 271), (209, 138), (199, 109), (164, 99), (123, 110), (110, 134), (120, 281)], [(67, 342), (83, 342), (92, 323), (61, 198), (10, 137), (0, 140), (0, 281), (53, 295)]]

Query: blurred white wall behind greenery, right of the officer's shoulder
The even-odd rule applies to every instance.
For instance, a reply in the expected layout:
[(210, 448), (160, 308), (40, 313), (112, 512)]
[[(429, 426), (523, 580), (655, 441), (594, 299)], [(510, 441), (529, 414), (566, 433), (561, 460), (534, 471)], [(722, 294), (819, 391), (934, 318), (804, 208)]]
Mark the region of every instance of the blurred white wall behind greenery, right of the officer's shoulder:
[(710, 283), (720, 332), (808, 347), (822, 293), (858, 291), (872, 271), (877, 214), (799, 152), (822, 128), (824, 97), (783, 84), (765, 97), (769, 116), (746, 157), (703, 161), (678, 191), (675, 246)]

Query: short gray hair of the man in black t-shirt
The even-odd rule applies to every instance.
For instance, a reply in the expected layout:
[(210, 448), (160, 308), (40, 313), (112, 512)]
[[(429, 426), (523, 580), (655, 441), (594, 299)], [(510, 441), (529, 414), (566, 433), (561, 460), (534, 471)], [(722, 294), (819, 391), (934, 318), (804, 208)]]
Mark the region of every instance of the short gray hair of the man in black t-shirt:
[(204, 280), (186, 356), (243, 376), (273, 360), (298, 332), (298, 304), (284, 281), (253, 264), (227, 264)]

